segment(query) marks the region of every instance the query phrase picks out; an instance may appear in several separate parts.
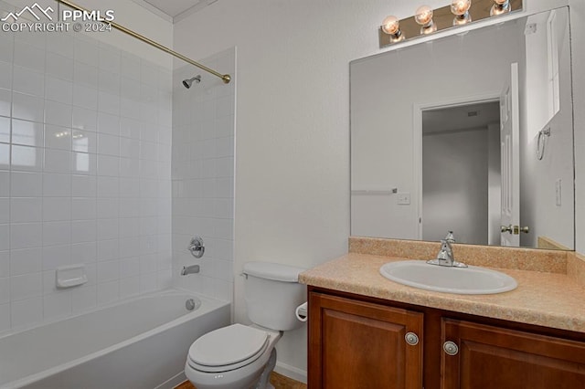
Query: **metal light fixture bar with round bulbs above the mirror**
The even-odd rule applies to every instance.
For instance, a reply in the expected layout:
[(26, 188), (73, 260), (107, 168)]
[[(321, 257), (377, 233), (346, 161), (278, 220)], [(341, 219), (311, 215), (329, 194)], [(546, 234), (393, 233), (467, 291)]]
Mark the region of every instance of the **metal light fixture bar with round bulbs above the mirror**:
[[(465, 2), (462, 1), (461, 3)], [(378, 28), (380, 48), (395, 45), (399, 42), (417, 37), (426, 37), (428, 34), (450, 28), (458, 28), (459, 26), (468, 23), (475, 23), (490, 17), (507, 15), (510, 12), (516, 12), (523, 9), (523, 0), (473, 0), (471, 3), (472, 5), (471, 8), (469, 8), (469, 11), (459, 19), (457, 16), (453, 19), (454, 16), (452, 14), (451, 4), (432, 10), (432, 29), (429, 27), (425, 28), (424, 26), (421, 27), (420, 23), (417, 23), (416, 15), (397, 21), (396, 25), (399, 26), (400, 39), (388, 35), (388, 33), (384, 32), (383, 26), (380, 26)], [(420, 15), (429, 14), (428, 10), (424, 11), (425, 12), (420, 12)], [(420, 21), (421, 17), (419, 16), (419, 22)], [(455, 21), (458, 21), (458, 23), (454, 23)]]

